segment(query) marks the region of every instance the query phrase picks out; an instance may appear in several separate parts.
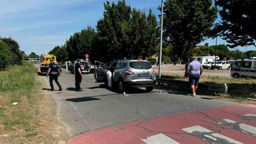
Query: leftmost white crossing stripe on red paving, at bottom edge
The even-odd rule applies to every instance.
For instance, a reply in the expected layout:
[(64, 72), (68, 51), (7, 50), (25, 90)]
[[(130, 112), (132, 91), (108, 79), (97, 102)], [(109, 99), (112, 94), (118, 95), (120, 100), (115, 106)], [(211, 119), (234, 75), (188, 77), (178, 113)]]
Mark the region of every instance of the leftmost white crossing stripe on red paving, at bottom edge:
[(143, 140), (147, 144), (179, 144), (178, 142), (164, 134), (153, 135), (141, 140)]

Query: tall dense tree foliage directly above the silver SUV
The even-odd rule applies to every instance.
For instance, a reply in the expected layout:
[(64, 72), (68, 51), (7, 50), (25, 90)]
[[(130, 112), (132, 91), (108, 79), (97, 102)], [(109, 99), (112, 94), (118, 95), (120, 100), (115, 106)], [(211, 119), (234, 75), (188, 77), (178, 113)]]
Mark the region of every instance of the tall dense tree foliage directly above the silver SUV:
[(155, 53), (158, 45), (159, 28), (151, 9), (133, 8), (119, 0), (117, 4), (104, 3), (103, 18), (96, 26), (98, 31), (97, 51), (104, 54), (101, 59), (145, 59)]

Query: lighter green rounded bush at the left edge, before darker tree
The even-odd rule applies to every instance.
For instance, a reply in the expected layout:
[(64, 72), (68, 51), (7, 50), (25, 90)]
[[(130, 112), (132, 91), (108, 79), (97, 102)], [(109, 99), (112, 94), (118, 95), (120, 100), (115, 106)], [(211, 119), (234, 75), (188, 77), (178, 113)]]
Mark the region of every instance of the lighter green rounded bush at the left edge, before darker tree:
[(16, 60), (15, 53), (10, 51), (8, 45), (0, 40), (0, 70), (5, 69), (7, 65), (13, 65)]

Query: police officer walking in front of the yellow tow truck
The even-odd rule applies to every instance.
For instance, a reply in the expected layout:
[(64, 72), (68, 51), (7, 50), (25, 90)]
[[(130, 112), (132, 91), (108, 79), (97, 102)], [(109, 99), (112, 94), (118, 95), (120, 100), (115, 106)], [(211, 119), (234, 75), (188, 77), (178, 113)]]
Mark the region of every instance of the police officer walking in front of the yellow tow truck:
[(61, 85), (58, 81), (58, 77), (60, 76), (60, 69), (58, 67), (57, 64), (54, 63), (54, 61), (51, 59), (50, 60), (50, 64), (49, 64), (49, 67), (48, 67), (48, 73), (46, 75), (46, 77), (49, 76), (49, 73), (50, 73), (50, 86), (51, 86), (51, 91), (54, 91), (54, 87), (53, 87), (53, 80), (56, 82), (56, 84), (58, 85), (59, 87), (59, 91), (62, 90), (61, 88)]

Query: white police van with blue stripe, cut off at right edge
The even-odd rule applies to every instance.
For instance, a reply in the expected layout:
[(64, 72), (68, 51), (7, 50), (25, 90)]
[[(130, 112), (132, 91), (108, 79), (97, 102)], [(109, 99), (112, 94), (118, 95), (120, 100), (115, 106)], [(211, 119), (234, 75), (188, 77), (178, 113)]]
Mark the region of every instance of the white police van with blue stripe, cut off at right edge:
[(231, 67), (230, 76), (233, 78), (239, 78), (241, 67), (241, 77), (256, 77), (256, 60), (255, 59), (245, 59), (242, 62), (241, 60), (234, 60)]

